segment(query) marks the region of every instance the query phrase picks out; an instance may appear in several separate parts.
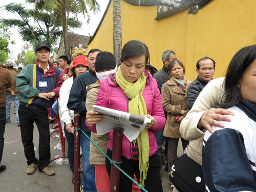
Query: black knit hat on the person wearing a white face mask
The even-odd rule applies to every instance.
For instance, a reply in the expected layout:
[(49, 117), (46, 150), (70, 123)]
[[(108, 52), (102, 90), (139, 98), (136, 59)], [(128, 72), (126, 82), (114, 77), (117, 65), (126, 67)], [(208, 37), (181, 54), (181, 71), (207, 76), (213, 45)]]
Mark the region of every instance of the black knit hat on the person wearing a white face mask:
[(116, 67), (116, 59), (111, 52), (103, 51), (99, 52), (96, 57), (95, 61), (95, 71), (106, 68), (113, 68)]

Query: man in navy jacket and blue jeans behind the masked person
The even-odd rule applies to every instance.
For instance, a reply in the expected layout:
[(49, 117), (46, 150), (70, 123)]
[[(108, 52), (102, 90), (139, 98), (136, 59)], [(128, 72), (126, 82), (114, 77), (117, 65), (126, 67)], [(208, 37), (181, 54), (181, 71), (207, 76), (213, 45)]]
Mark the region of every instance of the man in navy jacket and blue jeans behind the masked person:
[[(86, 126), (86, 87), (95, 83), (98, 78), (95, 74), (95, 60), (97, 54), (101, 52), (99, 49), (91, 49), (88, 53), (88, 67), (89, 70), (77, 76), (73, 82), (70, 90), (68, 108), (76, 110), (80, 115), (80, 126), (82, 131), (88, 136), (91, 136), (91, 131)], [(95, 185), (95, 171), (94, 165), (90, 164), (90, 140), (81, 134), (81, 147), (82, 147), (82, 164), (83, 164), (83, 191), (97, 191)]]

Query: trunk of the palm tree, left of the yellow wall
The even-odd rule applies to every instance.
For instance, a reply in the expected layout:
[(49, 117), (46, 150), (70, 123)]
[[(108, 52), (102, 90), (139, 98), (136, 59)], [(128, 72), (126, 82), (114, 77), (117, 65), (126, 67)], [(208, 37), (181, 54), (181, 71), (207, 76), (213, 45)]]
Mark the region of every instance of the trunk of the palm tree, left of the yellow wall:
[(66, 3), (65, 0), (61, 1), (61, 16), (62, 16), (62, 32), (63, 32), (63, 41), (65, 46), (65, 52), (67, 57), (71, 57), (68, 41), (68, 23), (66, 18)]

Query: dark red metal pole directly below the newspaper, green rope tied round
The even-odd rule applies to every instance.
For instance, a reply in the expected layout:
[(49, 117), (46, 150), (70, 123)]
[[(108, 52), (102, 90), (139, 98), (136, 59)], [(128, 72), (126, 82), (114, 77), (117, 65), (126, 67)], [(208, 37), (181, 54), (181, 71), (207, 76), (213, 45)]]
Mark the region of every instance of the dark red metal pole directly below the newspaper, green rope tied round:
[[(112, 160), (121, 161), (123, 129), (115, 127), (113, 132)], [(121, 165), (118, 164), (120, 167)], [(112, 164), (110, 177), (110, 192), (119, 192), (120, 171)]]

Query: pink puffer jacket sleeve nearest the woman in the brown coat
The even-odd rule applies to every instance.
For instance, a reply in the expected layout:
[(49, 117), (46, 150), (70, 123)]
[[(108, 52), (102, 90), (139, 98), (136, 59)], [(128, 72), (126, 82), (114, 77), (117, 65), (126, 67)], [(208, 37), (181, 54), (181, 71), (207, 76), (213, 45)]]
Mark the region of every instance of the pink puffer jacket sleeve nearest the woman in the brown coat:
[(152, 79), (153, 82), (153, 90), (155, 91), (154, 95), (154, 101), (152, 105), (152, 116), (156, 118), (157, 124), (154, 127), (151, 127), (152, 131), (159, 131), (162, 129), (165, 125), (166, 118), (164, 116), (164, 111), (163, 111), (163, 105), (162, 105), (162, 100), (161, 100), (161, 94), (157, 86), (157, 81), (155, 79)]

